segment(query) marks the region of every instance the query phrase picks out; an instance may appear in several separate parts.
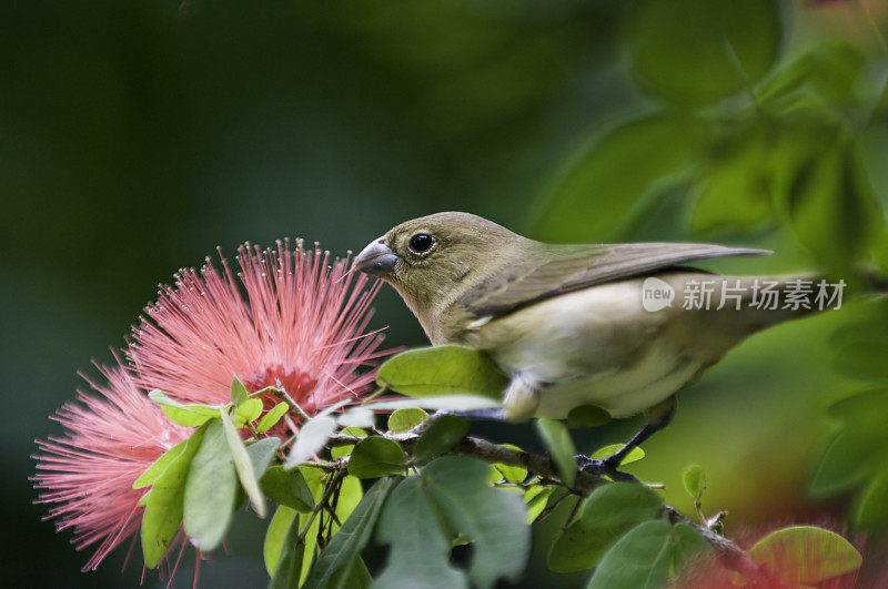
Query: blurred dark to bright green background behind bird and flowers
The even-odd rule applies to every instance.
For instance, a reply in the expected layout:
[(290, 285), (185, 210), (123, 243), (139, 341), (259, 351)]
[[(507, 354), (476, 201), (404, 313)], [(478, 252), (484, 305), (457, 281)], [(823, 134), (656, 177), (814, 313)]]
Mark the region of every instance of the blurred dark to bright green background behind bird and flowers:
[[(777, 252), (708, 265), (725, 272), (851, 280), (856, 264), (885, 262), (881, 4), (196, 0), (181, 14), (161, 0), (3, 3), (4, 575), (24, 587), (138, 582), (139, 565), (121, 577), (124, 549), (81, 575), (70, 535), (41, 522), (33, 439), (59, 433), (48, 416), (77, 372), (124, 344), (157, 284), (216, 245), (301, 236), (344, 255), (406, 219), (462, 210), (549, 241)], [(376, 308), (392, 345), (425, 343), (393, 291)], [(834, 427), (825, 408), (885, 375), (834, 369), (831, 334), (884, 312), (856, 301), (753, 337), (679, 396), (634, 471), (687, 510), (680, 471), (699, 463), (704, 510), (729, 511), (728, 534), (845, 529), (854, 495), (808, 490)], [(575, 439), (591, 450), (639, 423)], [(539, 448), (527, 426), (474, 427)], [(235, 526), (230, 554), (201, 568), (206, 587), (265, 582), (263, 524)], [(538, 544), (527, 586), (576, 582), (546, 570)]]

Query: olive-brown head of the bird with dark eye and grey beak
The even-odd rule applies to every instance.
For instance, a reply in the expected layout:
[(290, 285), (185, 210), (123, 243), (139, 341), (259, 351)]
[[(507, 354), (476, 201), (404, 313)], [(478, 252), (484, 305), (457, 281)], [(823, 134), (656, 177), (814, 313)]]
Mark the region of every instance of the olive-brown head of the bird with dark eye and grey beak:
[(357, 254), (353, 267), (394, 286), (420, 321), (452, 302), (467, 280), (484, 275), (527, 242), (470, 213), (436, 213), (401, 223)]

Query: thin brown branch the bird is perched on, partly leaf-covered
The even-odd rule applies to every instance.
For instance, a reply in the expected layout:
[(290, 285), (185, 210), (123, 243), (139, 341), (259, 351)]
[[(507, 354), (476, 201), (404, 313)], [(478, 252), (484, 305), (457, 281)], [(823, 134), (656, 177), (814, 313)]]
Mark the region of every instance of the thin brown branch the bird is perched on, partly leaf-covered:
[[(418, 426), (422, 428), (423, 426)], [(401, 434), (395, 433), (386, 433), (383, 434), (383, 437), (391, 439), (393, 441), (400, 443), (402, 446), (411, 448), (416, 440), (420, 438), (418, 428), (411, 431), (404, 431)], [(356, 436), (349, 436), (345, 434), (335, 434), (330, 437), (327, 441), (329, 446), (346, 446), (350, 444), (357, 444), (361, 441), (362, 438)], [(515, 450), (512, 448), (505, 448), (500, 446), (498, 444), (493, 444), (492, 441), (487, 441), (486, 439), (476, 438), (473, 436), (466, 436), (460, 441), (457, 441), (451, 450), (455, 454), (460, 454), (463, 456), (472, 456), (474, 458), (480, 458), (485, 463), (490, 464), (503, 464), (507, 466), (518, 466), (522, 468), (526, 468), (533, 473), (536, 473), (544, 479), (548, 479), (553, 483), (564, 485), (562, 480), (562, 475), (558, 473), (558, 467), (552, 460), (551, 456), (544, 456), (539, 454), (532, 454), (524, 450)], [(601, 487), (602, 485), (606, 485), (609, 481), (599, 475), (595, 475), (577, 468), (576, 477), (574, 479), (574, 485), (568, 487), (573, 492), (581, 495), (583, 497), (587, 496), (592, 492), (595, 488)], [(567, 485), (564, 485), (567, 487)], [(749, 555), (743, 550), (739, 546), (730, 541), (729, 539), (725, 538), (724, 536), (719, 536), (708, 527), (700, 525), (693, 519), (688, 518), (677, 509), (670, 506), (664, 506), (664, 511), (666, 516), (673, 524), (682, 522), (690, 526), (695, 530), (697, 530), (700, 536), (703, 536), (706, 541), (713, 547), (718, 555), (722, 562), (729, 569), (735, 570), (741, 575), (746, 576), (754, 576), (758, 573), (759, 567), (756, 565)]]

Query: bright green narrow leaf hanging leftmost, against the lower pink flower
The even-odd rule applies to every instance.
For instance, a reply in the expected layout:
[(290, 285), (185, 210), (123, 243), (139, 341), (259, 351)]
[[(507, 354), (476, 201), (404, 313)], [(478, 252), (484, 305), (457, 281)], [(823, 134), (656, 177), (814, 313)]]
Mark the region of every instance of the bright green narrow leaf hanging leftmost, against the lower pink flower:
[(201, 426), (188, 438), (182, 453), (173, 458), (154, 480), (142, 515), (142, 555), (145, 567), (153, 569), (160, 562), (182, 521), (185, 479), (191, 460), (203, 440), (206, 426)]

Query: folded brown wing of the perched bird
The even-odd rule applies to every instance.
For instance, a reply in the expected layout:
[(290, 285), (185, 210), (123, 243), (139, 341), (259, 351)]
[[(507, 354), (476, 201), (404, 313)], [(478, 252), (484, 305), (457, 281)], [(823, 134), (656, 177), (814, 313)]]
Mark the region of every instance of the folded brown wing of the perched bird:
[(476, 317), (501, 316), (538, 301), (596, 284), (663, 271), (707, 257), (765, 255), (699, 243), (545, 245), (545, 255), (526, 256), (465, 292), (457, 303)]

